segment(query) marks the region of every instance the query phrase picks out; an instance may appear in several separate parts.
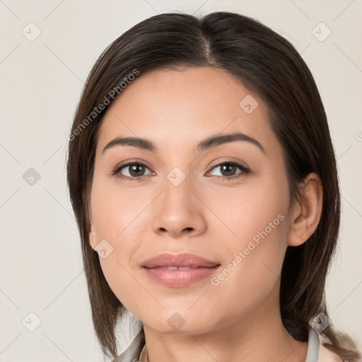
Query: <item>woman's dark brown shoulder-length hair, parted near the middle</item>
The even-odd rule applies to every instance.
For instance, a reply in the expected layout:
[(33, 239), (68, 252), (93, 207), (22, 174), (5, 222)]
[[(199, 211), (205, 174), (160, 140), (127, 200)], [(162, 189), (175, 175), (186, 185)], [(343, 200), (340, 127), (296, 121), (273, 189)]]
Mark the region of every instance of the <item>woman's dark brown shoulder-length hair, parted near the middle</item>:
[[(271, 126), (284, 149), (293, 199), (300, 197), (298, 185), (308, 173), (320, 176), (320, 223), (303, 245), (287, 248), (281, 272), (282, 321), (295, 339), (307, 341), (310, 320), (319, 313), (328, 315), (325, 281), (340, 218), (334, 148), (313, 76), (288, 40), (252, 18), (226, 11), (200, 18), (163, 13), (134, 25), (100, 55), (83, 88), (69, 138), (67, 181), (81, 236), (93, 325), (103, 354), (117, 356), (115, 328), (124, 306), (108, 286), (88, 239), (98, 129), (107, 105), (115, 99), (112, 90), (121, 96), (119, 84), (129, 83), (135, 70), (144, 74), (177, 66), (224, 69), (264, 100)], [(99, 111), (101, 103), (106, 106)], [(350, 337), (334, 330), (332, 324), (320, 334), (329, 338), (331, 343), (325, 346), (342, 361), (355, 362), (361, 357)]]

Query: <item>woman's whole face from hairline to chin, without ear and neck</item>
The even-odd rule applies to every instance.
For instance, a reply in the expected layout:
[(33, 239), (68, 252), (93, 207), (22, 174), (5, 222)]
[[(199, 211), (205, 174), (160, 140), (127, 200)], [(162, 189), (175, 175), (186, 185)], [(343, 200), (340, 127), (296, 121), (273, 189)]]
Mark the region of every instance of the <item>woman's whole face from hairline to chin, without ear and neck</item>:
[[(245, 136), (204, 142), (233, 133)], [(257, 95), (211, 67), (140, 74), (98, 136), (90, 240), (134, 316), (160, 332), (201, 333), (279, 313), (290, 199), (281, 145)], [(124, 137), (154, 149), (114, 142), (103, 151)], [(146, 262), (164, 253), (211, 263)]]

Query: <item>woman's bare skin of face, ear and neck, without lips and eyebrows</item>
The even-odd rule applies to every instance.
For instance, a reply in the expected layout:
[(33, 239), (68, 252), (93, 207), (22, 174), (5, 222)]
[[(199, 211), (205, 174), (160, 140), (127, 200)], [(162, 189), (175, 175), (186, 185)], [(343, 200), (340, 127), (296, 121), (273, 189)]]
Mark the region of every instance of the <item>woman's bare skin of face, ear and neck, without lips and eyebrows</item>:
[[(246, 95), (259, 104), (250, 114), (239, 106)], [(305, 361), (308, 342), (294, 340), (281, 323), (280, 276), (286, 247), (304, 243), (317, 227), (322, 188), (312, 173), (303, 199), (291, 203), (266, 110), (233, 76), (211, 67), (141, 74), (107, 110), (95, 154), (89, 237), (93, 249), (104, 239), (113, 247), (100, 264), (117, 298), (144, 323), (150, 362)], [(202, 139), (230, 132), (257, 139), (265, 153), (248, 141), (196, 151)], [(102, 153), (116, 136), (150, 139), (159, 149), (115, 146)], [(215, 167), (229, 158), (250, 173)], [(146, 165), (138, 181), (111, 175), (125, 161)], [(167, 177), (175, 167), (186, 177), (178, 186)], [(119, 174), (131, 172), (126, 167)], [(140, 267), (162, 252), (190, 252), (224, 269), (279, 214), (284, 220), (217, 286), (207, 277), (170, 288)], [(185, 322), (179, 330), (168, 324), (174, 313)]]

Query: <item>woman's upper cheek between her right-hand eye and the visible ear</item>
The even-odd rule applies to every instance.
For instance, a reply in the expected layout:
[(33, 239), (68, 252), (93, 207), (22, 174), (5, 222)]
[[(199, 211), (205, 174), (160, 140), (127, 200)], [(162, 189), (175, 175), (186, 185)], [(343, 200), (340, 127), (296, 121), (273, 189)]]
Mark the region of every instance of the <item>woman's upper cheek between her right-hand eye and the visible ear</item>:
[[(286, 225), (287, 181), (285, 177), (272, 176), (255, 177), (240, 187), (218, 188), (208, 194), (207, 205), (222, 221), (218, 223), (218, 229), (223, 230), (229, 245), (242, 246), (252, 238), (257, 241), (265, 235), (263, 230), (266, 228), (267, 235), (275, 235)], [(281, 218), (285, 219), (284, 222)]]

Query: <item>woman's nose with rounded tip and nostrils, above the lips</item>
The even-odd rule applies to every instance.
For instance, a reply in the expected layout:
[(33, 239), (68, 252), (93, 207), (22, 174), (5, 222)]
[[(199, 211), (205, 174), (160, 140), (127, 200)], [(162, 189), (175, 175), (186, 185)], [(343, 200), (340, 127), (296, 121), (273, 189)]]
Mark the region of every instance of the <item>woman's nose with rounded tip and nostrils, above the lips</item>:
[(186, 177), (180, 185), (166, 179), (163, 192), (153, 204), (152, 226), (155, 233), (172, 238), (194, 237), (206, 230), (206, 206), (202, 202), (201, 187), (192, 185)]

